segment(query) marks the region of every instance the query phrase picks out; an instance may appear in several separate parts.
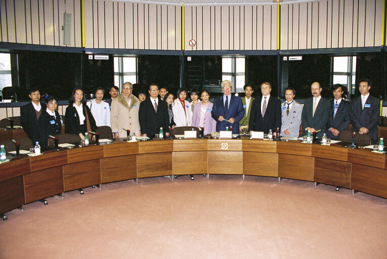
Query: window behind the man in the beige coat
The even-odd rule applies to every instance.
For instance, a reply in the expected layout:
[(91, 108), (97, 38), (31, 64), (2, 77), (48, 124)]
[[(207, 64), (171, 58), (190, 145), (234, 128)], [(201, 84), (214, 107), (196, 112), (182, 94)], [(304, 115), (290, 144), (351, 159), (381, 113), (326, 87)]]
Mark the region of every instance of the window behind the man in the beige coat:
[(114, 85), (120, 90), (124, 82), (137, 83), (137, 58), (114, 57)]

